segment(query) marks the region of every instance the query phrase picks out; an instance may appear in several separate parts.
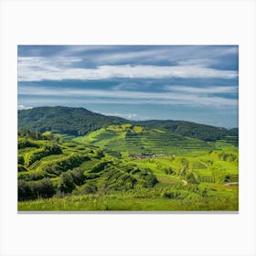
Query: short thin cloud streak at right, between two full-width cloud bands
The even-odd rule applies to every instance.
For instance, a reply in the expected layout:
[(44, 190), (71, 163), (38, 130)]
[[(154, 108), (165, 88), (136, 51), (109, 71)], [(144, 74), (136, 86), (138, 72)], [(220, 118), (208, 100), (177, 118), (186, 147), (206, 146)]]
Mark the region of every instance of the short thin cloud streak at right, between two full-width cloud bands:
[(181, 85), (166, 85), (166, 91), (183, 91), (185, 93), (208, 94), (208, 93), (236, 93), (238, 86), (210, 86), (210, 87), (192, 87)]

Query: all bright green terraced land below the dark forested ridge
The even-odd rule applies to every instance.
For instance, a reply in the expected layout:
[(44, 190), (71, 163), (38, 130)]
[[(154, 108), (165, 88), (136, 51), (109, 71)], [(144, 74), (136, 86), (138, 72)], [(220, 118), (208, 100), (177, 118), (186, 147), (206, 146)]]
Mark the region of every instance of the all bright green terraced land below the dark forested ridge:
[(18, 134), (18, 210), (238, 210), (238, 146), (112, 124)]

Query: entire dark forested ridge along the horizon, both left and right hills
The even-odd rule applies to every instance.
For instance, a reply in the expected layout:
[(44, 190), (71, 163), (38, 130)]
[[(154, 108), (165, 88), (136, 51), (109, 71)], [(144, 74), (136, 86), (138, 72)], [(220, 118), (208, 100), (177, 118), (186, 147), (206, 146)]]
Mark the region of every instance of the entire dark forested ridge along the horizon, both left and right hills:
[(18, 128), (38, 132), (84, 135), (111, 124), (133, 123), (148, 129), (160, 129), (204, 141), (224, 140), (238, 144), (237, 128), (228, 130), (215, 126), (186, 121), (150, 120), (131, 122), (120, 117), (105, 116), (84, 108), (37, 107), (18, 111)]

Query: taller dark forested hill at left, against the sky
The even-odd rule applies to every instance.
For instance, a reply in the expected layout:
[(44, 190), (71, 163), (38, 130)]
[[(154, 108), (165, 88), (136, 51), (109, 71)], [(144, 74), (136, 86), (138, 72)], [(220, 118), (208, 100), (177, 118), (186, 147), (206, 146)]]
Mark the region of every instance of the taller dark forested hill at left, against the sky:
[(18, 111), (18, 128), (40, 133), (85, 135), (110, 124), (127, 123), (120, 117), (105, 116), (84, 108), (37, 107)]

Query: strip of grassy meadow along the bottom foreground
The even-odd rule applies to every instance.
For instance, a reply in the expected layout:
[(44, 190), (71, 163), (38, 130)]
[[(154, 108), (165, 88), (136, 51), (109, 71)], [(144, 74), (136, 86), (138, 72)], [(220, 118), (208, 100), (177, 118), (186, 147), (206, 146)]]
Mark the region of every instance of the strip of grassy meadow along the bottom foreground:
[[(118, 192), (111, 195), (51, 197), (18, 202), (18, 210), (239, 210), (238, 187), (225, 190), (194, 189), (196, 192), (170, 192), (168, 189), (144, 189), (141, 192)], [(217, 196), (218, 195), (218, 196)]]

